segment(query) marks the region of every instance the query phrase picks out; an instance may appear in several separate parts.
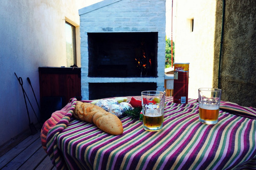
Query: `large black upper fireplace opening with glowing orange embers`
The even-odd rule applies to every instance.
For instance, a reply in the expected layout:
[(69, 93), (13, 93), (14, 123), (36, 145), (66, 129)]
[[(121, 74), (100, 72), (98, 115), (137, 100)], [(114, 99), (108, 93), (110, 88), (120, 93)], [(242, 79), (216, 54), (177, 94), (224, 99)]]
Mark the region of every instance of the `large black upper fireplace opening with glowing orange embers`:
[(88, 33), (89, 77), (157, 77), (157, 32)]

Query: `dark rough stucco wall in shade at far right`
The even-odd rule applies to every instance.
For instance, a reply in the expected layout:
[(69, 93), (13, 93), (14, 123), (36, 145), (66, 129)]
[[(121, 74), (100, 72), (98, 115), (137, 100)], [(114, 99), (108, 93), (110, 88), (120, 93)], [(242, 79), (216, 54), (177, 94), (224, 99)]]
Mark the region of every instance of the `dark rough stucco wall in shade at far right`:
[(222, 99), (256, 107), (256, 1), (226, 1)]

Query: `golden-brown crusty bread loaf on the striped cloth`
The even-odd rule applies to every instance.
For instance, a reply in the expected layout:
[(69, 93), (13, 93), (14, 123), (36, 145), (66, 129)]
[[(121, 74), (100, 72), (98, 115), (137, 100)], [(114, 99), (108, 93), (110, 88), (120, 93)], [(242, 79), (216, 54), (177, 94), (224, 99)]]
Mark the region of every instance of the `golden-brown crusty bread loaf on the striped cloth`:
[(88, 123), (94, 123), (100, 130), (112, 134), (123, 133), (121, 120), (99, 106), (77, 101), (74, 117)]

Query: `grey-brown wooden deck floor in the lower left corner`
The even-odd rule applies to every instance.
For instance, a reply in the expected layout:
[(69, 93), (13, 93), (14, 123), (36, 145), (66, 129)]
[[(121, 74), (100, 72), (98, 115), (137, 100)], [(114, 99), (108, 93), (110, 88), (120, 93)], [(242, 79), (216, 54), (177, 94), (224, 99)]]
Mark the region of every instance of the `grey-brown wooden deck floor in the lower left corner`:
[(42, 149), (40, 132), (1, 152), (0, 169), (56, 169)]

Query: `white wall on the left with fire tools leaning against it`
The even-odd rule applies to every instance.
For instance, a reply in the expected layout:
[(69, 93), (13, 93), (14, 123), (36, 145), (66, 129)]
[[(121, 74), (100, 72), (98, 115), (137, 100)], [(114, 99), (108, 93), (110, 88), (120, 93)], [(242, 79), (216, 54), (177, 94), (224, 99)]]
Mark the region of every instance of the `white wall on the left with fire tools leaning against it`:
[[(14, 72), (23, 78), (24, 88), (39, 117), (27, 77), (39, 101), (38, 67), (67, 66), (65, 19), (79, 26), (78, 9), (96, 2), (99, 1), (0, 1), (0, 145), (29, 128), (22, 88)], [(77, 31), (79, 33), (79, 27)], [(80, 44), (77, 46), (79, 50)], [(28, 108), (31, 122), (36, 124), (29, 103)]]

